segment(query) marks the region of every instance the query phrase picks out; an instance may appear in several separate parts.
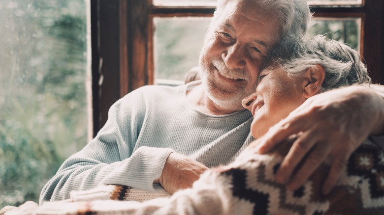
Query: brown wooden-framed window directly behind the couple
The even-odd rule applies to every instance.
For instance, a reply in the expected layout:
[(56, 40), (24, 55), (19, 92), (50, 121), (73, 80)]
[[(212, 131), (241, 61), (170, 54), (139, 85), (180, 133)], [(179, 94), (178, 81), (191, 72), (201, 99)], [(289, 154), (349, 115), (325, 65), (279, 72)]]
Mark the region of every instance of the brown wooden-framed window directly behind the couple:
[[(128, 92), (146, 84), (173, 85), (182, 82), (185, 75), (182, 73), (187, 72), (190, 66), (197, 65), (198, 50), (202, 46), (202, 43), (197, 41), (203, 38), (201, 32), (204, 32), (206, 23), (213, 15), (216, 1), (91, 2), (92, 14), (95, 15), (92, 19), (93, 38), (99, 40), (98, 50), (93, 51), (94, 92), (99, 92), (97, 95), (94, 94), (94, 132), (105, 123), (108, 108)], [(373, 81), (383, 84), (384, 2), (377, 0), (308, 2), (315, 12), (313, 29), (309, 30), (309, 35), (326, 33), (332, 39), (351, 43), (364, 57)], [(96, 30), (97, 21), (100, 25)], [(321, 31), (318, 31), (319, 27)], [(332, 33), (328, 33), (328, 29)], [(99, 37), (97, 32), (100, 34)], [(108, 35), (105, 32), (108, 32)], [(181, 51), (178, 44), (181, 41), (171, 43), (174, 38), (182, 37), (179, 33), (192, 36), (188, 41), (191, 41), (191, 44), (193, 41), (196, 45), (184, 44), (191, 50)], [(116, 38), (119, 38), (119, 41), (116, 41)], [(111, 55), (113, 57), (110, 57)], [(165, 58), (169, 61), (164, 62)], [(102, 66), (100, 66), (101, 60), (97, 59), (102, 59)], [(100, 74), (103, 80), (107, 76), (108, 81), (98, 84)]]

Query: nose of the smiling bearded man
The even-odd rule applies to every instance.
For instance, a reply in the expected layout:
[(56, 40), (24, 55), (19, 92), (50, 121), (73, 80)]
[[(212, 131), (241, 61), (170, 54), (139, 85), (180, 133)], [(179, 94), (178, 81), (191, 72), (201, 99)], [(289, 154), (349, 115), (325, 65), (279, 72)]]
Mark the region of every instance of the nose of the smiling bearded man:
[(222, 57), (225, 66), (229, 69), (244, 68), (246, 65), (244, 50), (237, 43), (228, 47)]

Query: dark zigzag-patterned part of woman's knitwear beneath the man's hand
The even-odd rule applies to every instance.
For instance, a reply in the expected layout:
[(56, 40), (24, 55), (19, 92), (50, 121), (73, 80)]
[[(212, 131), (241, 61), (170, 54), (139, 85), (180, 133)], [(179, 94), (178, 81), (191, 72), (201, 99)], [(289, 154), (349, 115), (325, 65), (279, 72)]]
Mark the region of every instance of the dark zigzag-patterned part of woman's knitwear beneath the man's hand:
[(292, 140), (268, 155), (255, 154), (248, 147), (238, 160), (220, 171), (231, 177), (232, 195), (254, 204), (252, 214), (299, 215), (384, 215), (384, 152), (366, 140), (350, 157), (336, 187), (321, 194), (331, 158), (320, 165), (310, 179), (290, 191), (274, 181)]

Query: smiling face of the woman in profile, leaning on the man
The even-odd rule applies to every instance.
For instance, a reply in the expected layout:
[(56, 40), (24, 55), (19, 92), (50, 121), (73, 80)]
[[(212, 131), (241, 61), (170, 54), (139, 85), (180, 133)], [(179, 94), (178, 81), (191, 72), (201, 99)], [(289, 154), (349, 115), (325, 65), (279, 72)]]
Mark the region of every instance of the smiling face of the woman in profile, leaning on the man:
[(260, 72), (256, 93), (242, 101), (243, 107), (254, 116), (251, 134), (255, 138), (264, 135), (305, 100), (301, 78), (290, 78), (285, 71), (273, 66), (265, 68)]

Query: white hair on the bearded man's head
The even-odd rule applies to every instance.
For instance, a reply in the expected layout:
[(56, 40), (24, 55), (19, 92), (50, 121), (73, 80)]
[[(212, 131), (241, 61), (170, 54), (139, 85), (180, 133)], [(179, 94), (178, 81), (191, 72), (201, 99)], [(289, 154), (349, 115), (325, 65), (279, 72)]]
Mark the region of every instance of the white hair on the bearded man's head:
[[(218, 0), (215, 14), (230, 0)], [(279, 23), (279, 39), (304, 39), (312, 14), (306, 0), (255, 0), (263, 10), (276, 11)]]

